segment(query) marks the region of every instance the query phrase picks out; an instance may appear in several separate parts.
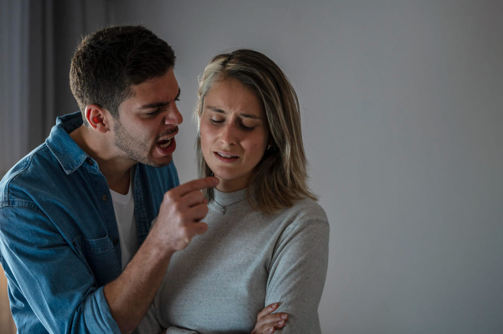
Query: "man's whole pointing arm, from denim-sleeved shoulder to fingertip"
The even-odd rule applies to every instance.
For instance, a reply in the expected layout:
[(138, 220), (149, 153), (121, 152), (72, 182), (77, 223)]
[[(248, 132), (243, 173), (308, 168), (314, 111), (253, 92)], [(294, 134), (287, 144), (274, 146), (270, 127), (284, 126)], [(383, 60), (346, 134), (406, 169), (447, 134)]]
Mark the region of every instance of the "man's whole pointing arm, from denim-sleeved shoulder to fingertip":
[(19, 310), (13, 312), (18, 329), (30, 324), (50, 333), (131, 332), (152, 301), (171, 254), (206, 231), (206, 224), (198, 222), (207, 212), (206, 201), (197, 189), (213, 186), (212, 180), (167, 192), (138, 256), (115, 281), (100, 288), (86, 257), (99, 262), (105, 251), (115, 255), (108, 249), (108, 237), (91, 240), (94, 246), (68, 240), (53, 220), (72, 217), (65, 211), (48, 217), (29, 200), (12, 200), (0, 208), (0, 263), (11, 306)]

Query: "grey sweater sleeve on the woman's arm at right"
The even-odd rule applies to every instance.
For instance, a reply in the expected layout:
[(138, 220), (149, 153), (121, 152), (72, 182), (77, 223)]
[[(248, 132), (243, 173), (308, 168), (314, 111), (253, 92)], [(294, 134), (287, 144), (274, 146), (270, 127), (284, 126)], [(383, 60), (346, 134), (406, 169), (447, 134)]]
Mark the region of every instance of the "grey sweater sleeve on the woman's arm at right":
[(289, 314), (289, 334), (319, 331), (318, 305), (328, 263), (327, 221), (292, 224), (278, 240), (267, 282), (266, 305), (279, 302), (277, 312)]

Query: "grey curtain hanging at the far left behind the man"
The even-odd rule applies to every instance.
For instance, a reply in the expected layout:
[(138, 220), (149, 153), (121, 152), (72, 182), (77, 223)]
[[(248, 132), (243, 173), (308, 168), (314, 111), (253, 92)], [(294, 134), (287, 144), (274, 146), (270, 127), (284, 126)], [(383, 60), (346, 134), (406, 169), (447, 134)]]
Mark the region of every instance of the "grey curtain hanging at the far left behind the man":
[(0, 175), (43, 141), (54, 119), (52, 7), (2, 0)]

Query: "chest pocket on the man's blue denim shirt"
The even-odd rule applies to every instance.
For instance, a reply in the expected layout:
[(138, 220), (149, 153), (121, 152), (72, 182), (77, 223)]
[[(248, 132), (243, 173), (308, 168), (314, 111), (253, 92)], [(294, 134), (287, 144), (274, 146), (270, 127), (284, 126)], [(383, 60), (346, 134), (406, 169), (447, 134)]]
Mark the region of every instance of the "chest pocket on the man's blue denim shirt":
[(77, 236), (73, 245), (86, 261), (98, 287), (106, 285), (121, 274), (117, 254), (108, 235), (100, 239)]

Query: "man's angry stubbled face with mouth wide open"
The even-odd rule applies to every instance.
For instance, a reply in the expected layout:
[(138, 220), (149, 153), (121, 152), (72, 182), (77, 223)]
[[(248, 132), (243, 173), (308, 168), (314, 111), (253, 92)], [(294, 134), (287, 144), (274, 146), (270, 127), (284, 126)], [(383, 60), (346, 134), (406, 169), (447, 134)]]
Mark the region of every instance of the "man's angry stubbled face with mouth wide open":
[(114, 146), (127, 159), (167, 166), (176, 148), (178, 125), (183, 122), (173, 69), (132, 88), (133, 94), (119, 105), (119, 119), (114, 120)]

